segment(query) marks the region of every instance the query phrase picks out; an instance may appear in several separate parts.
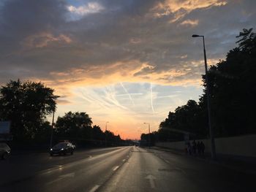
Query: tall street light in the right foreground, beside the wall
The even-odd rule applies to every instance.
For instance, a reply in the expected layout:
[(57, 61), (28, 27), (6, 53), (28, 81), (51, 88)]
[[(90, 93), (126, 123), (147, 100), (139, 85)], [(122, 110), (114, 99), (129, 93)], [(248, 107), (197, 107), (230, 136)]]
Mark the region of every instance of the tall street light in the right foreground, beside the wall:
[(208, 82), (208, 69), (207, 69), (207, 61), (206, 61), (206, 45), (205, 45), (205, 37), (203, 35), (193, 34), (192, 37), (203, 37), (203, 55), (205, 60), (205, 70), (206, 70), (206, 96), (207, 96), (207, 110), (208, 110), (208, 126), (210, 131), (210, 139), (211, 139), (211, 158), (216, 158), (215, 152), (215, 142), (214, 142), (214, 133), (213, 128), (211, 127), (211, 102), (210, 102), (210, 93), (209, 93), (209, 82)]

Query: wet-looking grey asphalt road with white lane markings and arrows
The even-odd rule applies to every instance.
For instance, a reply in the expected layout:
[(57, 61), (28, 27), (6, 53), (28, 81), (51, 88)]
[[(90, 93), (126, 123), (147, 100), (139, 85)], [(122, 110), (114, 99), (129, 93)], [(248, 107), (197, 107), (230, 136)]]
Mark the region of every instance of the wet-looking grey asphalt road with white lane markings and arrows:
[(0, 191), (251, 191), (255, 175), (140, 147), (74, 155), (12, 155), (0, 161)]

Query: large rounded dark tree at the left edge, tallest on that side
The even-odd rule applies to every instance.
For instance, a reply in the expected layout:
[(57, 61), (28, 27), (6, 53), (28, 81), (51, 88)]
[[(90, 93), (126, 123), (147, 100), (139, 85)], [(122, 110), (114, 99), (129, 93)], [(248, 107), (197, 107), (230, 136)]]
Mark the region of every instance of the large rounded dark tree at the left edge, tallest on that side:
[(45, 123), (46, 115), (56, 109), (54, 90), (42, 82), (7, 83), (0, 89), (0, 119), (11, 121), (11, 133), (17, 141), (36, 138)]

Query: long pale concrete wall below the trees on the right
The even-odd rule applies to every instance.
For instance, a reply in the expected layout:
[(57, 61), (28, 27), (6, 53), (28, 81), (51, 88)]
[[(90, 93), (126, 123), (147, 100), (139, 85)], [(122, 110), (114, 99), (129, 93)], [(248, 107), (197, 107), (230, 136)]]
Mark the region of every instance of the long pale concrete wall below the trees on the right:
[[(200, 139), (206, 145), (206, 153), (211, 152), (210, 139)], [(192, 140), (190, 140), (192, 143)], [(256, 157), (256, 134), (239, 137), (223, 137), (215, 139), (216, 153)], [(157, 142), (158, 147), (184, 150), (185, 142)]]

